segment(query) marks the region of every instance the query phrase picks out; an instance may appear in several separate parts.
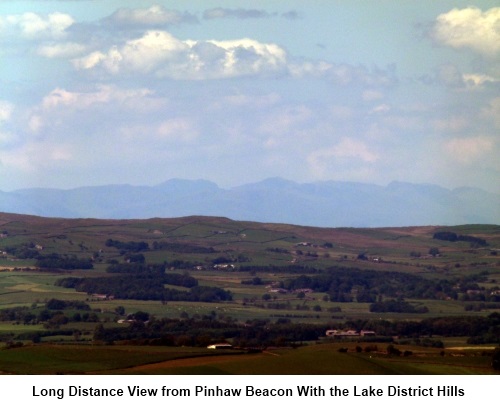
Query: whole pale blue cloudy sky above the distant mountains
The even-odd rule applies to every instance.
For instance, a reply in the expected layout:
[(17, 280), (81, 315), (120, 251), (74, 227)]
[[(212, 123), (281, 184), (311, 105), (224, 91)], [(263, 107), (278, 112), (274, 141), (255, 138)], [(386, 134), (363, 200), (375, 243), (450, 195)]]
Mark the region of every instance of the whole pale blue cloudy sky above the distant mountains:
[(500, 193), (498, 1), (0, 1), (0, 190)]

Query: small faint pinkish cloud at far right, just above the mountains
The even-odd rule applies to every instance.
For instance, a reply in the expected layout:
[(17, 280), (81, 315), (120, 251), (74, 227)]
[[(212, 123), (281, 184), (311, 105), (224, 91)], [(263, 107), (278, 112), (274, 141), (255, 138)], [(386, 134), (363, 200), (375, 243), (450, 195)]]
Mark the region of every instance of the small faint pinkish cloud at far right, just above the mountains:
[(455, 161), (471, 164), (483, 160), (489, 155), (495, 145), (491, 137), (475, 136), (469, 138), (454, 138), (444, 145), (445, 151)]

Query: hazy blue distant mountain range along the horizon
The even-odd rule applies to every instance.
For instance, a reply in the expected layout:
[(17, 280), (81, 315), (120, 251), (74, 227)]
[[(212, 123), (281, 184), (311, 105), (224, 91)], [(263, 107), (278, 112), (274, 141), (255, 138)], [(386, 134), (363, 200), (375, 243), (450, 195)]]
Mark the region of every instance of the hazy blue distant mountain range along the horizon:
[(500, 224), (500, 195), (401, 182), (378, 186), (270, 178), (223, 189), (206, 180), (172, 179), (152, 187), (0, 191), (0, 211), (109, 219), (210, 215), (320, 227)]

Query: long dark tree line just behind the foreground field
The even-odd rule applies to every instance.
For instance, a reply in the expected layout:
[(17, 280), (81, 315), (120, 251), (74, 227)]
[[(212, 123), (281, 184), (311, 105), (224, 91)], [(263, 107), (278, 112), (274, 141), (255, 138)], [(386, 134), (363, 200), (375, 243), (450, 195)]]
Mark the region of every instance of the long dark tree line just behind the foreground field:
[(141, 344), (157, 345), (205, 345), (214, 341), (231, 339), (235, 346), (266, 347), (269, 345), (290, 346), (306, 341), (317, 341), (325, 337), (327, 329), (372, 330), (376, 336), (356, 337), (365, 342), (392, 342), (412, 339), (420, 345), (442, 347), (439, 339), (432, 336), (467, 336), (468, 343), (500, 344), (500, 313), (487, 317), (438, 317), (422, 321), (350, 320), (330, 324), (292, 323), (289, 319), (248, 320), (245, 323), (231, 318), (216, 319), (215, 314), (184, 319), (150, 319), (135, 322), (128, 328), (100, 327), (96, 340), (136, 340)]

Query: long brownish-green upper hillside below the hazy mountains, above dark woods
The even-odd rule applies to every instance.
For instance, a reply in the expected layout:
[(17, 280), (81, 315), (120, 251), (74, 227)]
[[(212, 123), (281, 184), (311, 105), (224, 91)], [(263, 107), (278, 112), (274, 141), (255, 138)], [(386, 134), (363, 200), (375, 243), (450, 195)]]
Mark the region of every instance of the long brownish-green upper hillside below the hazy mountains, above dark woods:
[[(440, 232), (464, 238), (437, 239)], [(325, 268), (355, 262), (362, 268), (418, 273), (425, 273), (431, 263), (433, 271), (446, 270), (447, 274), (455, 272), (457, 262), (460, 273), (476, 271), (481, 267), (478, 262), (493, 266), (500, 248), (498, 225), (327, 228), (209, 216), (119, 220), (0, 213), (0, 233), (0, 247), (39, 246), (44, 255), (92, 258), (97, 265), (127, 251), (110, 247), (110, 239), (123, 244), (144, 243), (146, 259), (158, 263), (164, 258), (204, 265), (222, 256), (228, 263), (240, 265)], [(431, 256), (431, 249), (440, 254)], [(359, 255), (370, 260), (359, 260)], [(371, 260), (376, 258), (384, 264)]]

